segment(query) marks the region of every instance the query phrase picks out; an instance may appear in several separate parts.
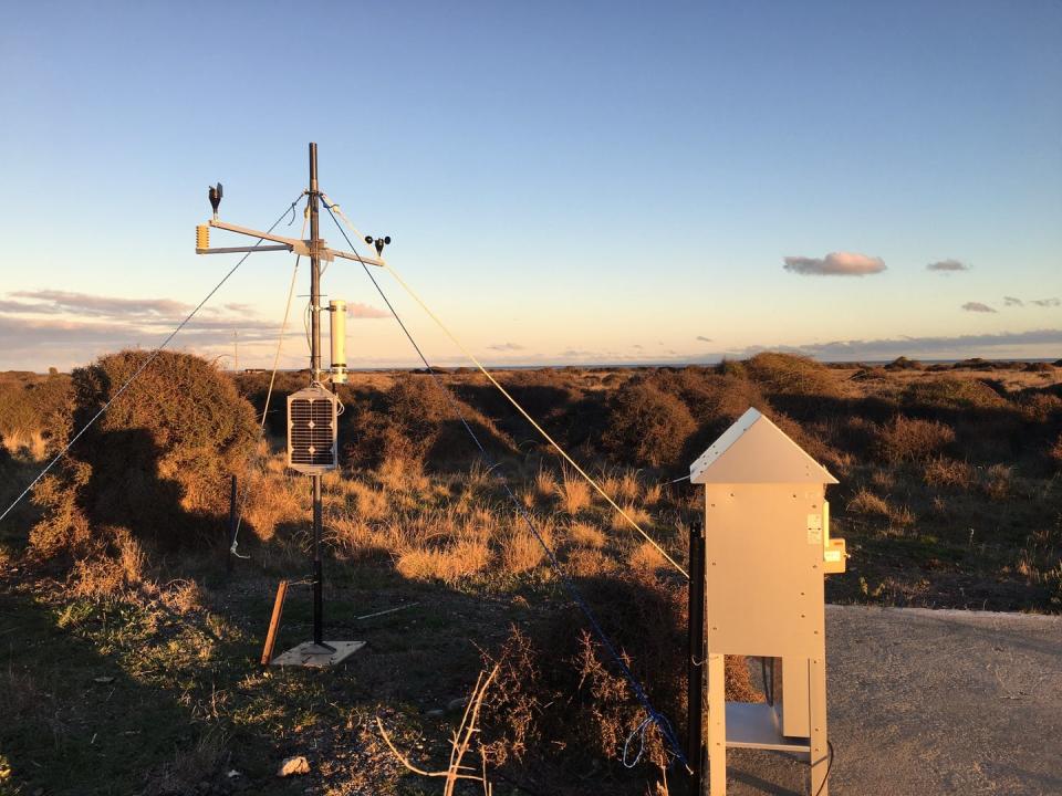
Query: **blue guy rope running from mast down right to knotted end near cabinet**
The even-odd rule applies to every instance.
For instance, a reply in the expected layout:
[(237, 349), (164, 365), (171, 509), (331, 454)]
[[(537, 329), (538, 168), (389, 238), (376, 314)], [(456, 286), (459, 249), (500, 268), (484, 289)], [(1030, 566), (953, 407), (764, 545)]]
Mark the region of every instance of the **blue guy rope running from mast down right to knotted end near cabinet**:
[[(355, 256), (357, 256), (357, 251), (355, 250), (354, 244), (351, 242), (350, 237), (347, 237), (346, 230), (343, 229), (339, 220), (335, 218), (335, 213), (332, 212), (332, 205), (329, 205), (326, 201), (323, 201), (323, 200), (322, 200), (322, 203), (324, 205), (324, 208), (329, 211), (329, 216), (332, 217), (332, 221), (335, 223), (336, 228), (340, 230), (343, 238), (346, 240), (346, 243), (351, 248), (351, 251), (353, 251)], [(454, 410), (454, 413), (457, 415), (457, 418), (461, 421), (461, 426), (465, 427), (465, 430), (468, 432), (468, 436), (472, 439), (472, 442), (475, 442), (476, 447), (479, 449), (479, 454), (480, 457), (482, 457), (483, 462), (486, 462), (487, 464), (487, 471), (493, 472), (498, 476), (499, 483), (506, 490), (506, 494), (509, 496), (509, 500), (516, 506), (517, 512), (523, 519), (523, 522), (528, 526), (528, 530), (532, 533), (535, 540), (538, 540), (539, 545), (545, 552), (545, 555), (549, 558), (551, 566), (560, 576), (561, 582), (564, 584), (564, 588), (568, 590), (569, 596), (572, 598), (572, 601), (575, 603), (579, 609), (586, 617), (586, 620), (590, 622), (590, 626), (593, 629), (594, 633), (597, 636), (601, 643), (608, 651), (608, 654), (612, 657), (616, 667), (620, 669), (624, 678), (631, 684), (631, 688), (634, 691), (634, 694), (637, 698), (638, 702), (642, 704), (642, 708), (648, 714), (648, 718), (644, 722), (642, 722), (642, 724), (633, 733), (631, 733), (631, 735), (627, 737), (627, 743), (624, 744), (624, 765), (627, 765), (627, 760), (626, 760), (627, 745), (631, 743), (632, 739), (635, 735), (638, 735), (642, 740), (642, 745), (644, 747), (645, 730), (648, 725), (648, 722), (652, 721), (654, 724), (656, 724), (657, 729), (660, 731), (660, 734), (664, 735), (664, 739), (667, 741), (668, 745), (671, 747), (671, 753), (675, 755), (675, 757), (677, 757), (679, 762), (681, 762), (681, 764), (688, 768), (689, 763), (686, 760), (686, 755), (683, 752), (681, 744), (678, 742), (678, 739), (675, 737), (675, 732), (671, 729), (670, 722), (667, 720), (667, 718), (663, 713), (657, 712), (657, 710), (653, 706), (652, 702), (649, 702), (649, 698), (645, 693), (645, 689), (642, 688), (642, 684), (638, 682), (637, 678), (634, 675), (634, 672), (631, 671), (631, 668), (623, 660), (623, 657), (616, 651), (616, 648), (612, 643), (612, 641), (608, 639), (608, 636), (605, 635), (605, 631), (602, 629), (601, 625), (598, 624), (597, 618), (594, 616), (594, 612), (590, 609), (590, 606), (586, 604), (586, 600), (583, 598), (582, 594), (580, 594), (579, 589), (575, 588), (575, 584), (573, 584), (571, 579), (569, 579), (569, 577), (564, 574), (564, 570), (561, 567), (561, 563), (558, 561), (556, 555), (553, 553), (550, 546), (545, 543), (545, 540), (542, 538), (542, 535), (539, 533), (538, 527), (535, 526), (534, 522), (531, 520), (523, 504), (520, 502), (520, 500), (510, 489), (509, 482), (504, 479), (503, 475), (501, 475), (500, 472), (498, 472), (499, 463), (494, 461), (493, 457), (491, 457), (490, 453), (487, 451), (487, 448), (483, 447), (483, 443), (480, 442), (479, 437), (477, 437), (476, 432), (472, 431), (472, 427), (468, 425), (468, 421), (465, 419), (465, 415), (461, 412), (460, 406), (457, 404), (457, 400), (454, 398), (454, 395), (450, 392), (449, 388), (447, 388), (446, 385), (442, 384), (441, 379), (439, 379), (438, 373), (436, 373), (435, 368), (433, 368), (431, 365), (428, 363), (428, 359), (424, 355), (424, 352), (420, 349), (420, 346), (417, 345), (417, 342), (413, 338), (413, 335), (409, 334), (409, 329), (406, 327), (406, 324), (403, 323), (402, 318), (398, 316), (398, 313), (395, 312), (395, 307), (392, 305), (391, 301), (387, 298), (387, 295), (384, 293), (383, 289), (379, 286), (379, 283), (376, 281), (376, 277), (373, 276), (372, 272), (368, 270), (368, 266), (364, 262), (362, 262), (361, 258), (358, 258), (358, 262), (361, 263), (362, 269), (365, 271), (365, 275), (368, 276), (368, 279), (373, 283), (373, 286), (376, 287), (376, 292), (379, 293), (379, 297), (384, 300), (384, 303), (387, 305), (387, 308), (391, 310), (391, 314), (394, 315), (395, 321), (398, 322), (398, 325), (402, 327), (402, 331), (405, 333), (406, 338), (409, 341), (410, 345), (413, 345), (414, 349), (417, 352), (417, 356), (420, 357), (420, 362), (424, 363), (424, 367), (431, 375), (431, 378), (435, 380), (435, 384), (439, 387), (439, 389), (442, 390), (442, 395), (446, 396), (446, 399), (449, 402), (450, 408)], [(634, 767), (634, 765), (637, 764), (641, 757), (642, 757), (642, 750), (639, 748), (638, 754), (635, 757), (634, 762), (631, 763), (627, 767)]]

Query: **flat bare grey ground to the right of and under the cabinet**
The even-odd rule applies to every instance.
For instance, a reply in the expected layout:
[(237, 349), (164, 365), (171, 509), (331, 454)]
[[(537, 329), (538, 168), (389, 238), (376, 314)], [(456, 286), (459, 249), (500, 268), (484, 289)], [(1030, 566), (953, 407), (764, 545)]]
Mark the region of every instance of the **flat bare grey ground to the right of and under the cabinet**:
[[(1062, 617), (827, 606), (834, 796), (1062, 793)], [(732, 751), (730, 796), (805, 794)]]

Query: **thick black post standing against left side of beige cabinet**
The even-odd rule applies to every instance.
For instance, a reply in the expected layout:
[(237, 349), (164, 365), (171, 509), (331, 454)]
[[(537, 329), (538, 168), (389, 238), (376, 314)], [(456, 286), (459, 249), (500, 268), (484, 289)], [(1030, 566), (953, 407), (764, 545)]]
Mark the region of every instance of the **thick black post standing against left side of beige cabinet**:
[(689, 793), (700, 796), (705, 762), (705, 528), (699, 520), (689, 526), (689, 637), (686, 661), (687, 725), (686, 757), (689, 761)]

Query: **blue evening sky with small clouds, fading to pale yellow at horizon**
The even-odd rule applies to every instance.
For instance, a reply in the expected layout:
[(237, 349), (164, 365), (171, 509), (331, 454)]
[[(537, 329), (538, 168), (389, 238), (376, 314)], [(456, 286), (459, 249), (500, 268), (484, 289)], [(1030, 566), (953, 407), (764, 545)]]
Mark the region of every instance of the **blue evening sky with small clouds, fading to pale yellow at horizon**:
[[(311, 140), (494, 365), (1062, 357), (1060, 41), (1055, 0), (4, 3), (0, 368), (162, 343), (238, 260), (194, 251), (208, 185), (268, 228)], [(293, 266), (252, 255), (170, 345), (270, 366)], [(351, 367), (417, 364), (356, 263), (323, 286)]]

